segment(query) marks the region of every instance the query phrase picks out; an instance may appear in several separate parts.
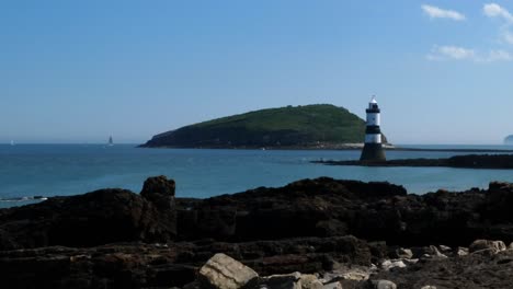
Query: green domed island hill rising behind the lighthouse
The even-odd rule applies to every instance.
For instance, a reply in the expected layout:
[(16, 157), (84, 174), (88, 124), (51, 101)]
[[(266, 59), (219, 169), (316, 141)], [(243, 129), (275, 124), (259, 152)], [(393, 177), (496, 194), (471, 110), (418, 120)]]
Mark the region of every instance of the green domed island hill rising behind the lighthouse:
[[(184, 126), (146, 148), (342, 149), (362, 146), (365, 122), (344, 107), (314, 104), (267, 108)], [(386, 143), (386, 138), (384, 137)]]

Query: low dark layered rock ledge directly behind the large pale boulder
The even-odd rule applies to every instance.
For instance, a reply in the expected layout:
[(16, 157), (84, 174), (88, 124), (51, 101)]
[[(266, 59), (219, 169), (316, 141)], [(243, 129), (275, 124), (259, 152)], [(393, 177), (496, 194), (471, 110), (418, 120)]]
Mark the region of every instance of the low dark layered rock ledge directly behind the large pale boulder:
[(54, 246), (0, 251), (0, 288), (195, 288), (198, 269), (220, 252), (262, 276), (330, 270), (339, 262), (369, 265), (372, 258), (366, 242), (353, 236)]

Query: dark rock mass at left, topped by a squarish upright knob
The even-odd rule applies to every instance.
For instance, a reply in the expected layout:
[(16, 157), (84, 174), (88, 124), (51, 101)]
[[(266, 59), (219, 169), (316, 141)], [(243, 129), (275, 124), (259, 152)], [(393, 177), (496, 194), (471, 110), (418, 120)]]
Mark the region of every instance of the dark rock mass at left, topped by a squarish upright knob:
[[(174, 182), (149, 178), (142, 196), (100, 189), (0, 210), (0, 248), (166, 242), (176, 234)], [(163, 192), (161, 194), (160, 192)]]

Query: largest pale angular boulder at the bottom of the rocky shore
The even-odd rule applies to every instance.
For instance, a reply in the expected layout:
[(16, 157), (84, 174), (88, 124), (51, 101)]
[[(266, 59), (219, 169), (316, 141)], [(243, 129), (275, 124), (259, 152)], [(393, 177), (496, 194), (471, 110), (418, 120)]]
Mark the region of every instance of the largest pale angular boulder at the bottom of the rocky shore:
[(253, 269), (223, 253), (214, 255), (200, 269), (201, 280), (218, 289), (239, 289), (258, 277)]

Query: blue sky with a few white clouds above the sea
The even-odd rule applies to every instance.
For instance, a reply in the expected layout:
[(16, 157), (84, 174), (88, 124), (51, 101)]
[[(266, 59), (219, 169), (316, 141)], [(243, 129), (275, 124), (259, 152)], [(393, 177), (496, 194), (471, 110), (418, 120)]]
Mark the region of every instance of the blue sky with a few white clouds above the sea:
[(373, 94), (395, 143), (513, 134), (513, 1), (0, 1), (0, 142), (144, 142)]

